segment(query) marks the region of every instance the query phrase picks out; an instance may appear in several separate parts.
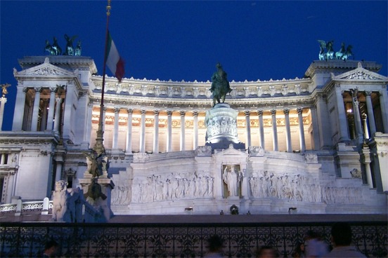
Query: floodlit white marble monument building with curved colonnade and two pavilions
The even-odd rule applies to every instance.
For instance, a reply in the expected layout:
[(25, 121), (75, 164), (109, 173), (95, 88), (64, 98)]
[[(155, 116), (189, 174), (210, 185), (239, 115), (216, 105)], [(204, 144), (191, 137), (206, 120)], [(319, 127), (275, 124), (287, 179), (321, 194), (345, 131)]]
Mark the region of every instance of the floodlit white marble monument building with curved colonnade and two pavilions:
[[(103, 77), (93, 59), (19, 64), (12, 130), (0, 133), (1, 203), (51, 198), (59, 180), (81, 187), (100, 119)], [(313, 61), (301, 79), (227, 81), (225, 73), (218, 97), (221, 64), (212, 81), (105, 77), (112, 212), (386, 213), (388, 78), (380, 69), (333, 59)]]

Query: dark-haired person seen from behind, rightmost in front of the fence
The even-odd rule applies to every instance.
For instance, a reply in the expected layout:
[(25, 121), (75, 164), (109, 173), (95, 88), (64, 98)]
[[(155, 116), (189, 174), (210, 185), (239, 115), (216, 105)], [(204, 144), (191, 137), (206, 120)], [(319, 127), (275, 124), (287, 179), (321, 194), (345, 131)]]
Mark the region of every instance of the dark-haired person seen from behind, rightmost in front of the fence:
[(332, 226), (331, 241), (333, 250), (325, 257), (366, 257), (351, 245), (351, 227), (346, 222), (337, 222)]

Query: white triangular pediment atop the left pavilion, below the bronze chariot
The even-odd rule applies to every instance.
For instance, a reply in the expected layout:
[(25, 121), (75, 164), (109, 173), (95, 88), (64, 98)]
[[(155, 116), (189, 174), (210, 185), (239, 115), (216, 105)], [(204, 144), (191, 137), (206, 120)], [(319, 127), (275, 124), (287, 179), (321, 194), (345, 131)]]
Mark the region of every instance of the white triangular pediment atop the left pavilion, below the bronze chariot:
[(15, 76), (75, 76), (75, 74), (50, 64), (48, 58), (46, 58), (43, 64), (17, 72)]

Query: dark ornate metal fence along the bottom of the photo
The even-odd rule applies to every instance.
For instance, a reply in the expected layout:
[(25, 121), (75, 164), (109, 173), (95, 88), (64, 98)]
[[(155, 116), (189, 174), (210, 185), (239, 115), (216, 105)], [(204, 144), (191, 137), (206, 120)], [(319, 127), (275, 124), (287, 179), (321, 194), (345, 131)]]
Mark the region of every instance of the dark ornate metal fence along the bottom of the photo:
[[(59, 257), (203, 257), (207, 239), (224, 239), (224, 257), (255, 257), (271, 245), (278, 257), (291, 257), (306, 231), (330, 243), (332, 222), (244, 224), (59, 224), (2, 223), (0, 257), (39, 257), (44, 243), (60, 244)], [(353, 242), (367, 257), (387, 257), (387, 223), (351, 223)]]

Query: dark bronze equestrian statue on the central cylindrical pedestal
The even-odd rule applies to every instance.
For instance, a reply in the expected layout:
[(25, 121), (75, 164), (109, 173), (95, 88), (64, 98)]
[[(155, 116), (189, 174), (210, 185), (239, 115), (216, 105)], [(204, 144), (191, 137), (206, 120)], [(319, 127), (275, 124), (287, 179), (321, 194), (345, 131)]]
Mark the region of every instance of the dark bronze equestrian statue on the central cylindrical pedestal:
[(226, 72), (222, 69), (220, 63), (216, 64), (217, 71), (212, 76), (213, 107), (218, 103), (224, 103), (226, 94), (231, 93), (232, 89), (229, 86)]

